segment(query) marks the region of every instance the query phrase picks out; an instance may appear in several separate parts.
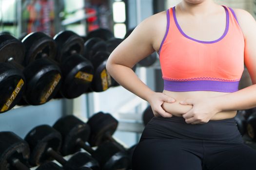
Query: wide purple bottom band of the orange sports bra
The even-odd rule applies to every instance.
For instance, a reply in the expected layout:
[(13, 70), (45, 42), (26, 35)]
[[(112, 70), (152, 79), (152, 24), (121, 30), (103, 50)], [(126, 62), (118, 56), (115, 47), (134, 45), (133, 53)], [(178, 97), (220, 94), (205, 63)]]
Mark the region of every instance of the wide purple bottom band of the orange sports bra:
[(164, 90), (168, 91), (218, 91), (231, 93), (238, 90), (237, 82), (220, 82), (211, 80), (169, 81), (164, 80)]

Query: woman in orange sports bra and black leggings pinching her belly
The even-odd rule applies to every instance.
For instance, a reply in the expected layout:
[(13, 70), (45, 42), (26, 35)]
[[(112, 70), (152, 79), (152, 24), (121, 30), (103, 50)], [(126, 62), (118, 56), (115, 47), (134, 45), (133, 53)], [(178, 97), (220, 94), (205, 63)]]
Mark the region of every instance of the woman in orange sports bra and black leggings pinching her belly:
[[(134, 152), (133, 170), (256, 170), (256, 151), (243, 144), (234, 119), (237, 110), (256, 107), (255, 44), (254, 18), (213, 0), (182, 0), (138, 25), (107, 63), (155, 115)], [(153, 51), (162, 93), (131, 69)], [(238, 90), (244, 64), (253, 85)]]

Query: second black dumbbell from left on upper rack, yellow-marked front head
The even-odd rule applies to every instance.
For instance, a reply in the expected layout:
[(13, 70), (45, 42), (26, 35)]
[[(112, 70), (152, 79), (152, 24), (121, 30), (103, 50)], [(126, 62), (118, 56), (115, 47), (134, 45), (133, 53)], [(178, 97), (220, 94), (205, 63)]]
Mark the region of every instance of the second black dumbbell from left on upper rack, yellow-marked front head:
[(22, 39), (25, 47), (23, 70), (27, 80), (25, 101), (39, 105), (51, 100), (59, 91), (62, 75), (54, 62), (57, 48), (50, 37), (41, 32), (30, 33)]

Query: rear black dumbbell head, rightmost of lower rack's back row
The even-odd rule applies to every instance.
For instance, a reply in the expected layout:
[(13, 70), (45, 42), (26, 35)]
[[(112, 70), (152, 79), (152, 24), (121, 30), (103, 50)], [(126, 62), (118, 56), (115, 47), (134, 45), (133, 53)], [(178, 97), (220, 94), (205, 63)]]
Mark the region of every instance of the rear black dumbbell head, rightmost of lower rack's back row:
[(112, 136), (118, 127), (118, 120), (109, 113), (99, 112), (87, 121), (91, 127), (89, 143), (91, 146), (98, 146), (107, 140), (106, 135)]

